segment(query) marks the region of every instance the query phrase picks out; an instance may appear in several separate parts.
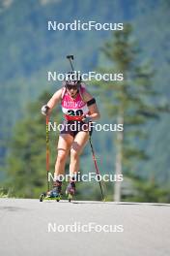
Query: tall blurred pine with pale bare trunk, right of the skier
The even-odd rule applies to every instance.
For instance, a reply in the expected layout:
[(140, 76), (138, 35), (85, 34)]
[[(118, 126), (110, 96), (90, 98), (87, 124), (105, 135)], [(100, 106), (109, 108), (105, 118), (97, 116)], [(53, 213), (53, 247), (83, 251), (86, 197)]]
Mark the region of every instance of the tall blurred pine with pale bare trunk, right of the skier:
[[(169, 111), (169, 105), (160, 106), (160, 95), (154, 89), (154, 71), (142, 59), (142, 52), (132, 38), (130, 24), (123, 31), (116, 31), (110, 42), (101, 49), (109, 68), (99, 68), (101, 74), (123, 73), (124, 80), (95, 82), (110, 120), (124, 126), (116, 132), (115, 174), (132, 171), (134, 161), (147, 160), (148, 155), (139, 141), (145, 140), (145, 125), (158, 119), (161, 112)], [(114, 186), (114, 201), (121, 200), (121, 182)]]

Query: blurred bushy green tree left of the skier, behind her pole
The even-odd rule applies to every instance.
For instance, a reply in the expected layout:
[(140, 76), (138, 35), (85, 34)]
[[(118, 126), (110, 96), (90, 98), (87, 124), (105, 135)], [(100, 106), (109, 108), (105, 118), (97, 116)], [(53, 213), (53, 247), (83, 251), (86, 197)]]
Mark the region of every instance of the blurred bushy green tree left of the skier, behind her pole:
[[(19, 120), (14, 128), (14, 137), (7, 158), (6, 171), (8, 180), (6, 187), (10, 187), (10, 196), (36, 198), (46, 190), (45, 171), (45, 116), (41, 108), (51, 95), (44, 92), (37, 102), (28, 106), (26, 117)], [(50, 121), (58, 123), (60, 115), (55, 111)], [(56, 159), (56, 143), (58, 131), (49, 132), (50, 173), (53, 176)]]

